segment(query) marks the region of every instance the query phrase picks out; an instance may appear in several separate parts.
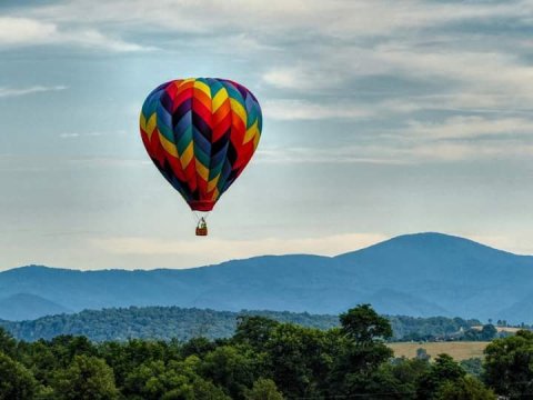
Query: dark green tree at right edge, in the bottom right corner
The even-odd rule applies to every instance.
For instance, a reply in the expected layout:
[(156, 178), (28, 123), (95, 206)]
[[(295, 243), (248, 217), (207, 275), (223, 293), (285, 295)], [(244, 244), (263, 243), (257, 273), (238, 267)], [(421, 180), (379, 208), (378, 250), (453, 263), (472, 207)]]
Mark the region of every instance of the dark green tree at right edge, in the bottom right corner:
[(484, 380), (496, 393), (511, 398), (533, 396), (533, 332), (496, 339), (485, 349)]

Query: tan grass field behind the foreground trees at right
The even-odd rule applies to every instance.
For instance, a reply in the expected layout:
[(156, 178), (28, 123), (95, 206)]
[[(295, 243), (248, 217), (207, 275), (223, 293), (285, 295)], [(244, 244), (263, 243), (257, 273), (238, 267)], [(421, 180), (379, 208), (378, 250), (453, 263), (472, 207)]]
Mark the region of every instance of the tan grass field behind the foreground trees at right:
[(389, 347), (394, 350), (395, 357), (413, 358), (416, 356), (416, 349), (425, 349), (428, 354), (434, 359), (438, 354), (447, 353), (456, 361), (469, 358), (483, 358), (483, 350), (490, 342), (429, 342), (429, 343), (390, 343)]

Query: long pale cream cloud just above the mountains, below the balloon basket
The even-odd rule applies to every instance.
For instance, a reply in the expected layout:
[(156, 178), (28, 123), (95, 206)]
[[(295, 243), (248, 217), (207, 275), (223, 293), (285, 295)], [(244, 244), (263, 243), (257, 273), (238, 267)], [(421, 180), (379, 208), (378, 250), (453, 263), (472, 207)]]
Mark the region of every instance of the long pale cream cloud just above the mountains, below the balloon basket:
[(100, 250), (119, 254), (139, 256), (194, 256), (202, 253), (209, 262), (248, 258), (264, 254), (310, 253), (335, 256), (361, 249), (388, 239), (382, 233), (349, 233), (323, 238), (258, 240), (228, 240), (205, 238), (198, 240), (172, 240), (168, 238), (105, 238), (93, 239), (92, 244)]

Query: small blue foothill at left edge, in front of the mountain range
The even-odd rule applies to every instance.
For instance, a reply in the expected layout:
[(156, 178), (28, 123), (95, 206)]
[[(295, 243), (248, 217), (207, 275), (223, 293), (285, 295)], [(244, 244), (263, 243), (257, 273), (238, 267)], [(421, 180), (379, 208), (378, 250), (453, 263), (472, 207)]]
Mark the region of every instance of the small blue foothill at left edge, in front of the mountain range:
[(4, 320), (31, 320), (64, 312), (72, 310), (36, 294), (17, 293), (0, 298), (0, 319)]

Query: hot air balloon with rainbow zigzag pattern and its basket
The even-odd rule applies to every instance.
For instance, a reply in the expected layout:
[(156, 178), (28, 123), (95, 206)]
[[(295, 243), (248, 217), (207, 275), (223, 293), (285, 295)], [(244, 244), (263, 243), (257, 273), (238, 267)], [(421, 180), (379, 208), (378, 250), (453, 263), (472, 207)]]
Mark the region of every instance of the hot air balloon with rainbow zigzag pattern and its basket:
[(250, 162), (261, 128), (255, 97), (228, 79), (172, 80), (144, 100), (142, 141), (161, 174), (194, 212), (197, 236), (208, 234), (207, 213)]

